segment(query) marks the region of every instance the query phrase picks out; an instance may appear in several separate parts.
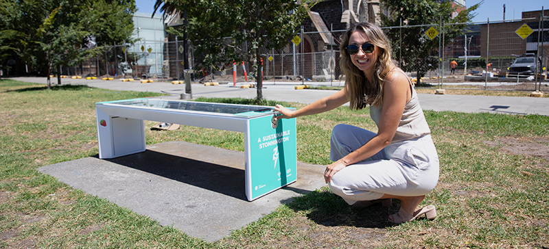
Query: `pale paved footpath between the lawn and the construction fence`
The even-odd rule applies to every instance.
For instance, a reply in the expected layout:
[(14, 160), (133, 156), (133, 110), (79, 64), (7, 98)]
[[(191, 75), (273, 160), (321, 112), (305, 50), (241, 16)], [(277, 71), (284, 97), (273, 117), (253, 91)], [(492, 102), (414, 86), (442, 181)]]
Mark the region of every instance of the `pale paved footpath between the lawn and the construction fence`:
[[(45, 77), (18, 77), (19, 81), (34, 83), (46, 83)], [(56, 79), (52, 83), (56, 83)], [(132, 90), (141, 92), (163, 92), (170, 94), (165, 98), (180, 99), (180, 94), (185, 93), (185, 85), (174, 85), (171, 82), (141, 83), (139, 81), (122, 82), (120, 80), (102, 81), (86, 79), (62, 79), (62, 84), (85, 84), (96, 88), (110, 90)], [(330, 83), (308, 82), (309, 85)], [(331, 83), (342, 85), (340, 81)], [(240, 83), (237, 83), (239, 86)], [(298, 103), (312, 103), (323, 96), (334, 93), (331, 90), (295, 90), (295, 82), (264, 81), (264, 98), (274, 101), (287, 101)], [(255, 88), (233, 87), (232, 83), (220, 84), (219, 86), (204, 86), (192, 84), (192, 96), (215, 97), (215, 98), (247, 98), (253, 99), (256, 96)], [(497, 114), (539, 114), (549, 116), (549, 98), (535, 97), (512, 97), (512, 96), (474, 96), (455, 94), (418, 94), (421, 107), (433, 111), (454, 111), (454, 112), (490, 112)]]

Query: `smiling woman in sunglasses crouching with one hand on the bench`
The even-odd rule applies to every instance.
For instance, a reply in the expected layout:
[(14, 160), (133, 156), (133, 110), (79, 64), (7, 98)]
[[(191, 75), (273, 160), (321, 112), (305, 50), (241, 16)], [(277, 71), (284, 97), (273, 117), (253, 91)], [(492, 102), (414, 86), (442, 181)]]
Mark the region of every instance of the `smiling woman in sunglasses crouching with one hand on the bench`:
[(417, 207), (439, 180), (439, 157), (412, 82), (393, 63), (388, 38), (376, 25), (358, 23), (342, 36), (340, 54), (344, 88), (301, 109), (277, 105), (277, 118), (319, 114), (347, 102), (351, 109), (369, 105), (377, 133), (336, 125), (330, 140), (334, 163), (326, 167), (326, 183), (349, 205), (400, 200), (399, 212), (388, 217), (395, 224), (423, 215), (434, 219), (433, 205)]

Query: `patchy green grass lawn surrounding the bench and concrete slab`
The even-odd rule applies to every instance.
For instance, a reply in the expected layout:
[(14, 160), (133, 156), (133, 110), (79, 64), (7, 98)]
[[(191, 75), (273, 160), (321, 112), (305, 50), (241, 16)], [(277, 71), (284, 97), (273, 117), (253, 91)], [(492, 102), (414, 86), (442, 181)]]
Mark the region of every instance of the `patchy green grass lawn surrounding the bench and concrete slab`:
[[(536, 150), (549, 145), (546, 116), (425, 111), (441, 176), (421, 205), (436, 205), (439, 217), (400, 226), (386, 222), (399, 208), (396, 200), (390, 209), (358, 209), (322, 188), (209, 243), (36, 170), (97, 155), (96, 102), (157, 95), (87, 86), (55, 85), (47, 90), (39, 84), (0, 80), (0, 248), (549, 247), (549, 155)], [(329, 163), (329, 134), (342, 122), (377, 130), (368, 109), (340, 107), (300, 117), (298, 160)], [(147, 128), (154, 124), (145, 122)], [(181, 140), (244, 148), (242, 133), (231, 131), (181, 127), (170, 133), (146, 129), (145, 135), (147, 144)]]

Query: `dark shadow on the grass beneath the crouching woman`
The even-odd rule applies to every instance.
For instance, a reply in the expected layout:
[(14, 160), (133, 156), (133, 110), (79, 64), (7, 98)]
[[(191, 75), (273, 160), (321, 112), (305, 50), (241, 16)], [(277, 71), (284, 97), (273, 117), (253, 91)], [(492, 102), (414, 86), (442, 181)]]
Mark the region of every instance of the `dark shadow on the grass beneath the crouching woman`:
[[(395, 205), (395, 204), (393, 204)], [(340, 196), (328, 189), (320, 189), (299, 196), (288, 204), (294, 211), (304, 211), (307, 218), (323, 226), (356, 226), (362, 228), (386, 228), (393, 226), (387, 221), (395, 207), (351, 207)]]

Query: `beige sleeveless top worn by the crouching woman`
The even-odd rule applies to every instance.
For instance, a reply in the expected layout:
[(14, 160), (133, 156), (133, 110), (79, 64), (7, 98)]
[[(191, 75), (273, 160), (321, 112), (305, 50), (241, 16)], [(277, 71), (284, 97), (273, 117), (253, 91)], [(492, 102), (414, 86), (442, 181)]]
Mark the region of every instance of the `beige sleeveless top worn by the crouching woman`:
[[(395, 69), (398, 69), (398, 72), (404, 74), (399, 68)], [(404, 75), (406, 76), (406, 74)], [(406, 79), (408, 79), (408, 76), (406, 76)], [(400, 118), (399, 127), (397, 128), (397, 132), (395, 133), (392, 142), (411, 140), (431, 133), (427, 120), (425, 120), (425, 116), (423, 115), (423, 110), (419, 106), (419, 99), (417, 98), (417, 93), (412, 85), (412, 81), (408, 79), (408, 83), (412, 89), (412, 98), (404, 107), (404, 113)], [(370, 105), (370, 116), (375, 124), (377, 124), (377, 127), (379, 127), (379, 117), (382, 114), (382, 108), (382, 106), (375, 107)]]

